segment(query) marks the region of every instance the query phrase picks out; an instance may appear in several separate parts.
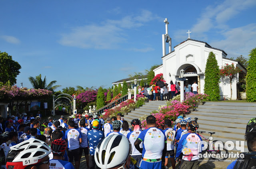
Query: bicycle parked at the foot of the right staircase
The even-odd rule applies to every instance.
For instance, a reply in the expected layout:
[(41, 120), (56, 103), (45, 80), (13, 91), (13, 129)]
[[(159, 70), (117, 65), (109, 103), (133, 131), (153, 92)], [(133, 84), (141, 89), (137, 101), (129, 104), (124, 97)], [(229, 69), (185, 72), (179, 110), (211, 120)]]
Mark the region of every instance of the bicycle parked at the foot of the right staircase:
[[(202, 151), (202, 154), (207, 152), (207, 154), (209, 154), (208, 157), (211, 157), (212, 159), (217, 160), (217, 161), (223, 161), (223, 160), (228, 158), (228, 150), (225, 148), (224, 143), (222, 141), (220, 141), (220, 140), (212, 141), (212, 139), (213, 139), (212, 135), (215, 134), (215, 132), (208, 132), (211, 135), (208, 139), (199, 134), (199, 133), (202, 134), (202, 133), (205, 133), (205, 132), (198, 131), (196, 133), (199, 136), (201, 136), (202, 138), (204, 138), (205, 140), (208, 141), (207, 149)], [(209, 141), (212, 141), (212, 146), (209, 145)], [(209, 147), (211, 149), (209, 149)], [(212, 155), (212, 154), (215, 154), (215, 155)]]

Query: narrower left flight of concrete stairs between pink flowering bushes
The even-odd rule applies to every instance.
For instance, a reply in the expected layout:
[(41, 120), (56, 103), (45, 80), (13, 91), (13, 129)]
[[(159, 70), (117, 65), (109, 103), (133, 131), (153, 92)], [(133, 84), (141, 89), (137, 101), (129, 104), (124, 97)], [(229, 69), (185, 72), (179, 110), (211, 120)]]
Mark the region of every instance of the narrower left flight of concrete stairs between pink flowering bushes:
[(145, 103), (140, 108), (136, 108), (135, 110), (132, 110), (132, 112), (129, 112), (128, 115), (124, 115), (124, 120), (126, 120), (128, 122), (128, 124), (130, 125), (131, 121), (133, 119), (135, 119), (135, 118), (140, 119), (144, 115), (149, 116), (152, 111), (158, 110), (159, 106), (165, 105), (165, 104), (166, 104), (166, 101), (151, 101), (151, 100), (149, 100), (148, 103)]

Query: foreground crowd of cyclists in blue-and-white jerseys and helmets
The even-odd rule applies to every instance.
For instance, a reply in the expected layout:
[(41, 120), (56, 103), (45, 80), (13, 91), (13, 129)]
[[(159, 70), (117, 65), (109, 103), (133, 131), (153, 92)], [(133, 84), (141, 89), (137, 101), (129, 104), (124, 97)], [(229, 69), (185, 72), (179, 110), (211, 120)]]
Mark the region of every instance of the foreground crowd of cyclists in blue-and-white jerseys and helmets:
[[(0, 163), (5, 169), (79, 169), (83, 152), (88, 169), (167, 169), (169, 159), (173, 169), (176, 163), (180, 169), (198, 169), (200, 163), (203, 145), (196, 134), (197, 118), (178, 116), (174, 126), (166, 119), (165, 130), (156, 127), (152, 115), (146, 118), (147, 129), (138, 119), (131, 121), (130, 129), (121, 114), (106, 122), (100, 114), (76, 114), (69, 120), (64, 116), (42, 120), (40, 113), (26, 121), (10, 118), (0, 135)], [(246, 128), (249, 151), (255, 151), (255, 131), (256, 118)]]

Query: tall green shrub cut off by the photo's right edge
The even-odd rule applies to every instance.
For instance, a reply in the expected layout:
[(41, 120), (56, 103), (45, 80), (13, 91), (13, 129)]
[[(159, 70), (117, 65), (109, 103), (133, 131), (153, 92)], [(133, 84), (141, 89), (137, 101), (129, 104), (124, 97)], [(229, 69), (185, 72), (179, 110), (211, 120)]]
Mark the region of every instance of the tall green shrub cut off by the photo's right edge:
[(247, 102), (256, 101), (256, 48), (252, 49), (248, 61), (246, 75), (246, 96)]

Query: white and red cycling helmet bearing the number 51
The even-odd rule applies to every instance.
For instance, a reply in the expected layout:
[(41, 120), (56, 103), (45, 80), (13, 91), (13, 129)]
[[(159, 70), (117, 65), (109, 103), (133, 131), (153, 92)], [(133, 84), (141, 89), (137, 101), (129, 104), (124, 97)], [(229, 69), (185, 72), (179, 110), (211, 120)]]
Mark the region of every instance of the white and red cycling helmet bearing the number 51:
[(28, 165), (38, 165), (52, 152), (51, 148), (38, 139), (29, 139), (10, 147), (6, 157), (7, 169), (25, 169)]

